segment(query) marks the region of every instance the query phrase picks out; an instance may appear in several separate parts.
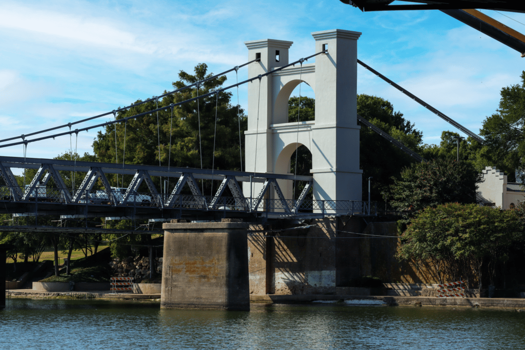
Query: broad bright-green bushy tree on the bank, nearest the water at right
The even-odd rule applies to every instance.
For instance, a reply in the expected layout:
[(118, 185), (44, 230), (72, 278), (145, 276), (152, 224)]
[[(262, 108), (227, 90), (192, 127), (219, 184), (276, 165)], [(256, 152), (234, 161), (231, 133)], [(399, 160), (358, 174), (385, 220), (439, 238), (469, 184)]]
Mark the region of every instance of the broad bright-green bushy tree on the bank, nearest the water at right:
[(514, 210), (459, 203), (428, 207), (401, 235), (397, 256), (433, 262), (440, 282), (445, 275), (468, 278), (475, 267), (481, 290), (484, 263), (494, 284), (496, 263), (508, 259), (510, 247), (522, 241), (522, 228)]

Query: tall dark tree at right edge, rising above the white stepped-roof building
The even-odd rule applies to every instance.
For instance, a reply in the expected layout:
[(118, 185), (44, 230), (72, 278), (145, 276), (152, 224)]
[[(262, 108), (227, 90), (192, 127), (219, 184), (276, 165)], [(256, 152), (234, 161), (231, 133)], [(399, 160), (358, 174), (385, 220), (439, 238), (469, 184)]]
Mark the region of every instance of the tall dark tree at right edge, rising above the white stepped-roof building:
[(521, 84), (502, 88), (500, 94), (499, 108), (485, 119), (480, 134), (491, 160), (512, 180), (514, 169), (525, 169), (525, 71)]

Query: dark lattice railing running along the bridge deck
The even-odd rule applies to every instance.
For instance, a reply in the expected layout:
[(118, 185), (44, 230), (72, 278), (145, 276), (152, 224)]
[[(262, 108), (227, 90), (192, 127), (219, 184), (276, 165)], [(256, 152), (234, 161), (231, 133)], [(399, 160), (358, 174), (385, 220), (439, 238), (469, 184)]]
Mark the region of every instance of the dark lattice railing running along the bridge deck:
[[(15, 200), (13, 193), (22, 196)], [(192, 194), (171, 195), (133, 192), (127, 189), (78, 190), (53, 187), (36, 187), (29, 191), (24, 187), (0, 186), (0, 200), (30, 203), (60, 203), (97, 206), (156, 207), (184, 210), (267, 212), (282, 215), (377, 215), (384, 211), (377, 203), (360, 200), (279, 199), (229, 196), (198, 196)], [(382, 210), (381, 210), (382, 209)], [(36, 209), (38, 210), (38, 208)], [(46, 210), (46, 209), (40, 209)]]

